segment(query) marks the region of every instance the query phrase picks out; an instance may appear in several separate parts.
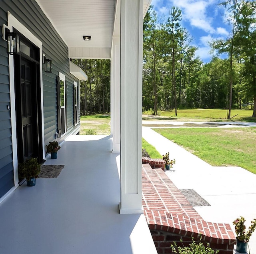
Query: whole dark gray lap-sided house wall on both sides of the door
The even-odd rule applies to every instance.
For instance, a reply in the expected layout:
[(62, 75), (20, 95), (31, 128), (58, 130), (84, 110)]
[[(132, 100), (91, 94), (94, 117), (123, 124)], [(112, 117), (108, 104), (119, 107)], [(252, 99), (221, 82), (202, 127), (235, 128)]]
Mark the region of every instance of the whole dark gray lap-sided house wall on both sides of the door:
[[(42, 42), (42, 53), (52, 60), (52, 73), (42, 72), (43, 90), (43, 129), (44, 143), (56, 137), (58, 128), (57, 117), (57, 77), (58, 72), (65, 75), (67, 85), (67, 119), (66, 135), (79, 131), (78, 125), (74, 126), (73, 86), (79, 80), (69, 72), (68, 47), (60, 38), (48, 18), (44, 15), (35, 0), (0, 0), (0, 26), (8, 26), (8, 12), (25, 26), (38, 40)], [(14, 162), (12, 140), (11, 92), (9, 55), (6, 53), (7, 42), (2, 38), (0, 30), (0, 198), (12, 188), (14, 184)], [(44, 65), (42, 65), (44, 67)], [(79, 90), (79, 86), (78, 86)], [(78, 91), (79, 94), (79, 91)], [(78, 97), (79, 98), (79, 97)], [(65, 138), (60, 138), (60, 142)]]

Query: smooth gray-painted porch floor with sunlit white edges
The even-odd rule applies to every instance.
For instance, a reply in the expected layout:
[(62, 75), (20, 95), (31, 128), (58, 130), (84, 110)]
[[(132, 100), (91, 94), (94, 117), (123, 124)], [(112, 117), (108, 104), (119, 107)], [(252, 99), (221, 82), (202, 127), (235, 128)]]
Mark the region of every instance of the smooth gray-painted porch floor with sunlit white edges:
[(110, 136), (70, 136), (58, 178), (18, 187), (0, 204), (1, 254), (156, 254), (144, 215), (119, 214), (120, 155)]

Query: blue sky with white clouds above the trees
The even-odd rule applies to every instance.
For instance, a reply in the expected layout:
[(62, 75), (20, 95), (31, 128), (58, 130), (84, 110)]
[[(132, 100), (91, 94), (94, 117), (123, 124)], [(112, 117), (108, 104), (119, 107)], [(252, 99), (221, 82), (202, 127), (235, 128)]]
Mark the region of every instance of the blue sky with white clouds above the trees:
[(172, 6), (182, 10), (181, 25), (194, 39), (191, 45), (198, 47), (196, 56), (200, 56), (206, 63), (212, 58), (208, 42), (226, 39), (230, 34), (225, 9), (218, 6), (219, 2), (220, 0), (152, 0), (151, 4), (159, 16), (167, 17)]

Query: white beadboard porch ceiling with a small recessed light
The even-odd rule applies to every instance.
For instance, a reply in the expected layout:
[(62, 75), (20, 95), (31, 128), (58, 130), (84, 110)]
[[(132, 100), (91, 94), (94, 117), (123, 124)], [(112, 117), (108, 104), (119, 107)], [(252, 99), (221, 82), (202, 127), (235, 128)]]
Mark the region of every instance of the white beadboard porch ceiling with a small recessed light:
[[(118, 25), (120, 0), (36, 0), (69, 48), (79, 58), (110, 58), (112, 36)], [(144, 15), (152, 0), (144, 0)], [(83, 35), (90, 35), (84, 41)], [(74, 58), (74, 57), (73, 57)]]

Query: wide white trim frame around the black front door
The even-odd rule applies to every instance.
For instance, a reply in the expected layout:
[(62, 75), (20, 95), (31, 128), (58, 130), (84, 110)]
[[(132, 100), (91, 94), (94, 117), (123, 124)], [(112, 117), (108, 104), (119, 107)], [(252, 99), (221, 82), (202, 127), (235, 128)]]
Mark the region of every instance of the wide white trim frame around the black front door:
[[(43, 74), (42, 74), (42, 42), (30, 32), (22, 23), (20, 23), (10, 12), (8, 15), (8, 28), (10, 32), (15, 28), (22, 36), (30, 40), (39, 48), (40, 63), (40, 96), (41, 96), (41, 122), (42, 122), (42, 149), (44, 151), (44, 106), (43, 106)], [(18, 186), (18, 146), (16, 133), (16, 112), (15, 112), (15, 86), (14, 86), (14, 56), (9, 55), (9, 72), (10, 72), (10, 106), (11, 106), (11, 126), (12, 126), (12, 154), (14, 168), (14, 186)], [(40, 117), (40, 116), (39, 116)], [(45, 153), (43, 152), (43, 159)]]

